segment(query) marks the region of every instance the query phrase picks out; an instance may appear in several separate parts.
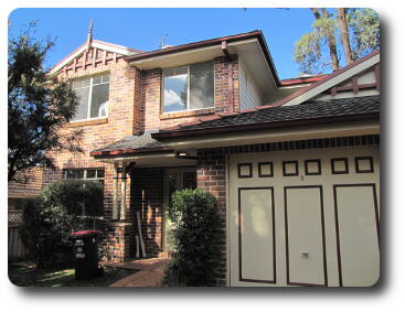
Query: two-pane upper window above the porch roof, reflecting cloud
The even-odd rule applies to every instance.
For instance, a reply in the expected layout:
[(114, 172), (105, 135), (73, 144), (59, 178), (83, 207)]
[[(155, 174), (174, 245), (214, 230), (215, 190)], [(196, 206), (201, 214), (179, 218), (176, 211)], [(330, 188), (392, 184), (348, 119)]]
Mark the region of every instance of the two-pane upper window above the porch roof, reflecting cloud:
[(162, 112), (213, 107), (213, 62), (163, 69), (162, 89)]

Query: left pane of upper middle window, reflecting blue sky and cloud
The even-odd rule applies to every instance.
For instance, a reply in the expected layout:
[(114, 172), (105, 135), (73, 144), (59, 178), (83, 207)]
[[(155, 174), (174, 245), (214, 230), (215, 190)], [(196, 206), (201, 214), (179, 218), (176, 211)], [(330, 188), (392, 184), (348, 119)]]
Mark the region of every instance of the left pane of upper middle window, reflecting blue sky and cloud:
[(163, 69), (163, 112), (186, 109), (188, 67)]

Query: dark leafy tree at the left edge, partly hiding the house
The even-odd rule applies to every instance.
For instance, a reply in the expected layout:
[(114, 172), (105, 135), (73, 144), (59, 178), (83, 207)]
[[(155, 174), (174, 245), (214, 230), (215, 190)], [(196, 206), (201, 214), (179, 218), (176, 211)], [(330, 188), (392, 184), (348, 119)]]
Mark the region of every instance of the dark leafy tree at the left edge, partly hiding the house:
[(44, 68), (46, 53), (54, 42), (35, 41), (35, 23), (17, 36), (8, 47), (8, 181), (17, 172), (46, 165), (54, 168), (50, 151), (81, 151), (75, 142), (81, 131), (62, 133), (74, 116), (78, 98), (67, 82), (50, 82)]

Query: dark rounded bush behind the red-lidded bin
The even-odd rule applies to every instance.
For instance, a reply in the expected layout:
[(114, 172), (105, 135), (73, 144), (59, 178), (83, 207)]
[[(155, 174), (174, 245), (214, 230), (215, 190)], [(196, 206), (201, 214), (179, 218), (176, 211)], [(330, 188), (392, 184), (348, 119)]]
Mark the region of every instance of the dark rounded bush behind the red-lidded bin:
[(103, 213), (103, 185), (93, 181), (63, 180), (50, 184), (23, 205), (21, 237), (38, 267), (54, 263), (70, 252), (67, 236), (95, 227)]

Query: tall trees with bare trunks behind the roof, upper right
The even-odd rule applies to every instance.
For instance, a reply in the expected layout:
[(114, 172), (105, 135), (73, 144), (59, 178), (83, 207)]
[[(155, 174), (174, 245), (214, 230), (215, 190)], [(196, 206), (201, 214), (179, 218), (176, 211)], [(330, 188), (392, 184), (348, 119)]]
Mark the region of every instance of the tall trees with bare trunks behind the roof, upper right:
[[(294, 58), (305, 74), (318, 74), (345, 64), (380, 49), (380, 20), (371, 9), (327, 10), (311, 8), (315, 15), (312, 31), (303, 34), (294, 47)], [(329, 53), (327, 52), (329, 51)]]

